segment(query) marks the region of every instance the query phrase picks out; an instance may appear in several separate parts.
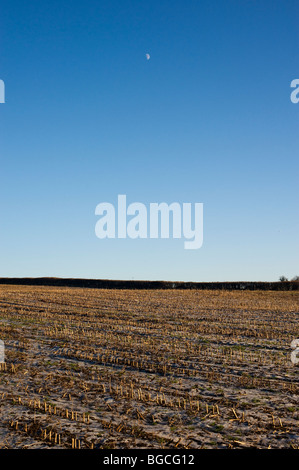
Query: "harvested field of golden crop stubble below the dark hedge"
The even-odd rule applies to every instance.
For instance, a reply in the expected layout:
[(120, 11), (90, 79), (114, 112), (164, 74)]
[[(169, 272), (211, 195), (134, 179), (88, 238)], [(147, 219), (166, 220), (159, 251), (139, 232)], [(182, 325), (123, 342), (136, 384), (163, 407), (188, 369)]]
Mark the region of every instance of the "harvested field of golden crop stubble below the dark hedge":
[(299, 448), (299, 293), (0, 286), (0, 448)]

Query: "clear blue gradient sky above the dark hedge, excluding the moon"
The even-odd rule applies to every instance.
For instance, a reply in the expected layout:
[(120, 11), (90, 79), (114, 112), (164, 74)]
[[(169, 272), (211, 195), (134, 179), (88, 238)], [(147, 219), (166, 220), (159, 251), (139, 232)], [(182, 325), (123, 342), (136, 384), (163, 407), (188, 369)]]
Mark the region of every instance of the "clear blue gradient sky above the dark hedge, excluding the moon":
[[(0, 276), (299, 274), (298, 25), (297, 0), (2, 2)], [(202, 248), (100, 240), (118, 194), (203, 203)]]

